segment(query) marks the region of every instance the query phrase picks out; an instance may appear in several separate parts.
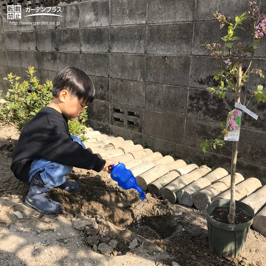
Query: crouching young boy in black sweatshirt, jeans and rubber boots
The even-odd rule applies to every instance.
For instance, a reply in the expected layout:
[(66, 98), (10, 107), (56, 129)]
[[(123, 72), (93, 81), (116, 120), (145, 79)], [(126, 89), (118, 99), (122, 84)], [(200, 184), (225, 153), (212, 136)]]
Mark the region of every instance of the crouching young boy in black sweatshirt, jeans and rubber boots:
[(60, 188), (76, 193), (81, 185), (66, 179), (72, 167), (110, 173), (110, 160), (100, 159), (85, 148), (81, 140), (68, 133), (68, 120), (80, 116), (94, 99), (94, 86), (82, 70), (66, 67), (53, 80), (53, 101), (43, 107), (23, 128), (11, 170), (19, 180), (30, 184), (26, 206), (44, 214), (62, 210), (59, 202), (45, 192)]

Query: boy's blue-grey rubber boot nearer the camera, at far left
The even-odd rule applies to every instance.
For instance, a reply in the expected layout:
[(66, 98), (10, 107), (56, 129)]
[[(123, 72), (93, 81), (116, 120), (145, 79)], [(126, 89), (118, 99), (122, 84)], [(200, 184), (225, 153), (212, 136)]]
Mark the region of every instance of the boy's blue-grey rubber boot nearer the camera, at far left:
[(30, 191), (26, 197), (25, 205), (43, 214), (59, 213), (62, 210), (62, 205), (45, 194), (49, 190), (44, 185), (40, 174), (37, 173), (30, 183)]

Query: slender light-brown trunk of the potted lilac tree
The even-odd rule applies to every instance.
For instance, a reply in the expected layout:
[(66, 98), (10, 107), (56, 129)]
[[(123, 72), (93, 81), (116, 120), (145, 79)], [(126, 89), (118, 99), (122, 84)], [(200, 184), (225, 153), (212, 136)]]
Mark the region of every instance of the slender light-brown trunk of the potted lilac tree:
[[(242, 81), (242, 65), (239, 65), (237, 70), (237, 81), (235, 88), (236, 103), (240, 103)], [(238, 141), (233, 141), (232, 161), (231, 161), (231, 198), (230, 212), (228, 214), (228, 222), (234, 223), (236, 218), (236, 160), (237, 160), (237, 145)]]

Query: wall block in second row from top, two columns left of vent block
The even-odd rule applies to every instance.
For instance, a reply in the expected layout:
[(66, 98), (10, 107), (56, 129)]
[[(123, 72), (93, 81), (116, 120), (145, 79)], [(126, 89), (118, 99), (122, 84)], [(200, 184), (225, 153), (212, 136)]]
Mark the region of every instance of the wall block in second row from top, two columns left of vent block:
[(61, 52), (79, 52), (79, 38), (79, 30), (57, 30), (56, 47)]

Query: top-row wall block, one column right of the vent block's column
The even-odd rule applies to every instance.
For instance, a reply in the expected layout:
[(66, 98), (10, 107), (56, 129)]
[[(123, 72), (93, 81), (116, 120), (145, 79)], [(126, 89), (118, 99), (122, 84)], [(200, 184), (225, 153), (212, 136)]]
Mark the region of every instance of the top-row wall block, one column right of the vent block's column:
[(148, 5), (148, 23), (193, 21), (194, 12), (194, 0), (153, 0)]

